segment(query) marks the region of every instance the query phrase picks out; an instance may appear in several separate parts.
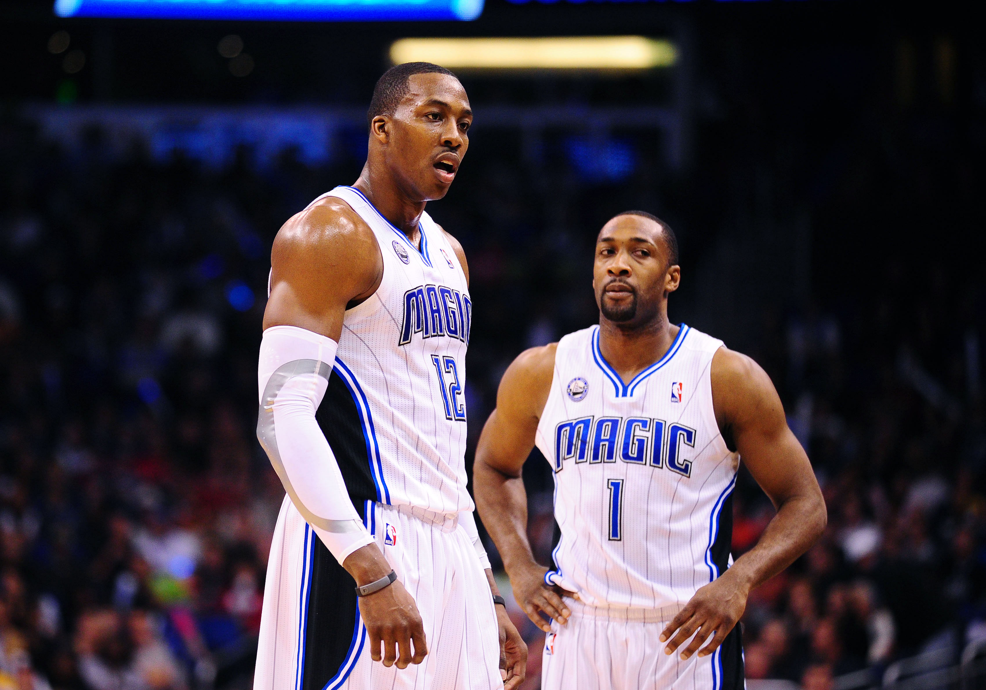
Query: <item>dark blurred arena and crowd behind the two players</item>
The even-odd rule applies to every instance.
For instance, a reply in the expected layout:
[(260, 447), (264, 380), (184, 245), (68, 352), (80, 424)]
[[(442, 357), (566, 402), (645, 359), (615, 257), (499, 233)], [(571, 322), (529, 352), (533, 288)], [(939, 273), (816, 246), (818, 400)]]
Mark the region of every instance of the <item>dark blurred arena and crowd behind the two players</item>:
[[(509, 362), (597, 320), (601, 224), (656, 213), (681, 245), (672, 320), (764, 367), (828, 503), (821, 541), (750, 596), (749, 690), (986, 685), (971, 9), (487, 0), (472, 21), (333, 21), (87, 3), (0, 3), (0, 689), (252, 687), (283, 496), (254, 436), (275, 233), (358, 175), (394, 41), (593, 35), (657, 58), (457, 70), (475, 127), (428, 211), (471, 267), (467, 466)], [(547, 464), (525, 481), (547, 564)], [(773, 515), (743, 471), (739, 487), (735, 557)], [(536, 688), (543, 634), (508, 598)]]

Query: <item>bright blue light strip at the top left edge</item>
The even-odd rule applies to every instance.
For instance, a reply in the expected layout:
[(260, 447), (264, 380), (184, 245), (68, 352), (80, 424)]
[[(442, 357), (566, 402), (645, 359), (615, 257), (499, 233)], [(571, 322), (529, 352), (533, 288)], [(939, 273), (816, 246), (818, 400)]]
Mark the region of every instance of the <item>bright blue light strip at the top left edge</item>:
[(55, 0), (54, 10), (59, 17), (468, 22), (483, 0)]

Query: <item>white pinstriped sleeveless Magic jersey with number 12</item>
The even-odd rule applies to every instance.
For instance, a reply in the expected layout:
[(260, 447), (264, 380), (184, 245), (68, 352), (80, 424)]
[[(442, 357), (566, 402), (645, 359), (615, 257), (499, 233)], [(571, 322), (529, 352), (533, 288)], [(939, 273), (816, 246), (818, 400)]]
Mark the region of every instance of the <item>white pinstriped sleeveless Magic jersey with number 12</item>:
[(349, 494), (355, 505), (471, 512), (463, 453), (472, 303), (458, 256), (427, 213), (419, 250), (355, 187), (318, 199), (326, 196), (360, 215), (384, 257), (377, 292), (345, 312), (317, 411)]

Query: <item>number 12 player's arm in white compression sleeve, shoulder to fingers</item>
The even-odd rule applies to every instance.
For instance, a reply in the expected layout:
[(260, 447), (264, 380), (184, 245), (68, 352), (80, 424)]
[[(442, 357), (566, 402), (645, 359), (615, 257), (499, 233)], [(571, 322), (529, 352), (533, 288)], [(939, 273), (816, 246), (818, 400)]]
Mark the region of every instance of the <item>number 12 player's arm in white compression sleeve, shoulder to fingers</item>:
[[(339, 200), (326, 200), (294, 216), (274, 240), (259, 369), (260, 417), (267, 422), (258, 424), (257, 431), (292, 501), (314, 526), (319, 519), (331, 527), (343, 522), (335, 517), (346, 514), (349, 523), (357, 517), (317, 426), (315, 411), (331, 373), (344, 312), (373, 295), (383, 273), (384, 261), (373, 231)], [(312, 365), (301, 372), (301, 366), (309, 362)], [(285, 372), (284, 365), (291, 365), (291, 371)], [(295, 370), (301, 373), (292, 377)], [(283, 382), (272, 386), (279, 373)], [(275, 421), (283, 425), (279, 435), (274, 433)], [(326, 513), (337, 516), (324, 519)], [(391, 571), (368, 534), (361, 539), (354, 535), (351, 546), (340, 547), (332, 531), (317, 529), (357, 585), (373, 583)], [(356, 545), (359, 548), (350, 550)], [(374, 660), (404, 668), (424, 659), (427, 648), (421, 617), (399, 582), (361, 597), (360, 612)]]

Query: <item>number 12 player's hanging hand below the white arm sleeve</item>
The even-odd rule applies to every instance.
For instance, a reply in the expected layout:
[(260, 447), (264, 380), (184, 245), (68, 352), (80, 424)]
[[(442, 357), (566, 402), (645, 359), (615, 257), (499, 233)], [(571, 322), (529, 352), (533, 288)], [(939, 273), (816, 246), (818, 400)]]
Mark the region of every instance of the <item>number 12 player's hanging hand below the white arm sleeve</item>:
[[(400, 581), (361, 596), (360, 615), (370, 638), (370, 656), (374, 661), (383, 659), (385, 666), (397, 664), (407, 668), (409, 663), (421, 663), (428, 654), (425, 629), (417, 604)], [(411, 653), (411, 642), (414, 652)], [(380, 645), (384, 643), (384, 653)]]

